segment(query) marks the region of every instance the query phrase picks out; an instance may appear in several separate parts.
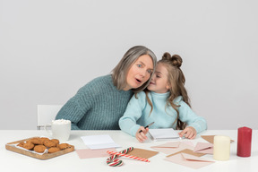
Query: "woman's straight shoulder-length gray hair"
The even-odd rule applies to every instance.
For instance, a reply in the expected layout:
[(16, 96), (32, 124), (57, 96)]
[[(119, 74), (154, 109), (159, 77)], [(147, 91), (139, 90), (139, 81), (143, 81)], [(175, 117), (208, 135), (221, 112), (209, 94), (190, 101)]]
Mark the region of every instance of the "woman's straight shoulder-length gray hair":
[[(157, 64), (157, 57), (155, 54), (147, 47), (143, 46), (135, 46), (131, 47), (120, 60), (120, 62), (116, 65), (116, 67), (112, 71), (112, 79), (114, 85), (118, 90), (123, 90), (126, 86), (126, 75), (132, 66), (132, 64), (139, 58), (139, 56), (149, 55), (152, 59), (153, 63), (153, 73)], [(151, 73), (150, 79), (143, 83), (141, 87), (132, 89), (134, 93), (140, 92), (144, 90), (150, 83), (151, 77), (153, 75)]]

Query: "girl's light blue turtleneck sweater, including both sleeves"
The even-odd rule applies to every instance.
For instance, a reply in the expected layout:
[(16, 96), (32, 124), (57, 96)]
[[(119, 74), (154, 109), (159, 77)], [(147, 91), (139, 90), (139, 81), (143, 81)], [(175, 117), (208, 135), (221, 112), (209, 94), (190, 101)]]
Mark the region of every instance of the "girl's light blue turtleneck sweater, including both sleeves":
[[(150, 114), (150, 105), (147, 102), (144, 91), (137, 94), (137, 98), (133, 95), (129, 101), (124, 116), (119, 120), (119, 126), (122, 131), (129, 133), (135, 137), (135, 134), (140, 126), (149, 125), (155, 122), (150, 128), (174, 128), (176, 129), (176, 110), (171, 106), (166, 106), (169, 92), (155, 93), (150, 91), (148, 94), (152, 102), (153, 109)], [(206, 120), (201, 116), (196, 116), (191, 107), (189, 107), (182, 97), (177, 97), (174, 102), (179, 111), (179, 119), (185, 122), (188, 126), (193, 126), (197, 133), (200, 133), (207, 128)]]

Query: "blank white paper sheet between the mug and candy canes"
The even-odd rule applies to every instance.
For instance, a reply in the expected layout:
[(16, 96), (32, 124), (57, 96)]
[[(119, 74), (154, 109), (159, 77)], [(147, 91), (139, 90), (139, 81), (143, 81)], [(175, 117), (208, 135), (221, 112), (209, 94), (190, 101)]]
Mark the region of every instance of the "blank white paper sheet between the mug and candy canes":
[(114, 142), (112, 140), (112, 138), (107, 134), (105, 134), (105, 135), (88, 135), (88, 136), (82, 136), (81, 138), (82, 138), (82, 141), (91, 150), (120, 147), (120, 145), (116, 144), (116, 142)]

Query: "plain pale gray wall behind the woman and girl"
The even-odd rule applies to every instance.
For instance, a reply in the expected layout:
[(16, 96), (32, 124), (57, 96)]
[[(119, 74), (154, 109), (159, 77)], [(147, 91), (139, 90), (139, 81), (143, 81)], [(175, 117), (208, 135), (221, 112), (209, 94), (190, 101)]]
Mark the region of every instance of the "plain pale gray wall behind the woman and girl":
[(36, 129), (38, 104), (64, 104), (125, 51), (182, 56), (208, 129), (258, 129), (255, 0), (0, 0), (0, 129)]

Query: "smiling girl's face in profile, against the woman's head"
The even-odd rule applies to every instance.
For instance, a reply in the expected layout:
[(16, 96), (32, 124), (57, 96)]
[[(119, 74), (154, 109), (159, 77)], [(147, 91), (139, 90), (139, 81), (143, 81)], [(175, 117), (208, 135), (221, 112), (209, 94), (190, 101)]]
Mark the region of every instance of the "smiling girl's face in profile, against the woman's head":
[(147, 87), (157, 93), (168, 92), (170, 88), (168, 83), (168, 70), (163, 64), (157, 64), (155, 73), (153, 74), (150, 84)]

